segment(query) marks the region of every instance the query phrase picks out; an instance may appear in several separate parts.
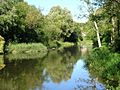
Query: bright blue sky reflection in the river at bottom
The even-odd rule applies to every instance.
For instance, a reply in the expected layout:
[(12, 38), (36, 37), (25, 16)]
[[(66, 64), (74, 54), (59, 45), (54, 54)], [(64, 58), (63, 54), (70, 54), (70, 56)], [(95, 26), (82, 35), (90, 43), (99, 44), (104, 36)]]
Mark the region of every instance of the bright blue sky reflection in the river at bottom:
[[(39, 89), (36, 88), (36, 90)], [(84, 60), (80, 59), (74, 65), (69, 80), (62, 80), (60, 83), (55, 83), (48, 76), (47, 81), (43, 82), (42, 90), (105, 90), (105, 87), (90, 77)]]

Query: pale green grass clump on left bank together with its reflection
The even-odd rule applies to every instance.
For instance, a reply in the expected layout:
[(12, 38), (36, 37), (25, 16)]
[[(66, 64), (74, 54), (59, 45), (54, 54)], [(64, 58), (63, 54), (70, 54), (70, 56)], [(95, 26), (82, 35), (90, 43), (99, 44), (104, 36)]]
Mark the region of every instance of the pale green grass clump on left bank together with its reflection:
[(34, 59), (42, 58), (47, 54), (47, 47), (41, 43), (30, 44), (10, 44), (8, 46), (7, 58), (9, 60), (16, 59)]

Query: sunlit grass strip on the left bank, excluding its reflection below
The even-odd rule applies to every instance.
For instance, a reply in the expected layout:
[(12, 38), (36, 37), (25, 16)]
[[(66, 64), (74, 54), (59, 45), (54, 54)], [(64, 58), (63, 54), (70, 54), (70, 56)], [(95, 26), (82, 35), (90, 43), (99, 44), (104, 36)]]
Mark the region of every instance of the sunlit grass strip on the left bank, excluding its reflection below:
[(9, 53), (37, 53), (44, 52), (46, 50), (46, 46), (41, 43), (21, 43), (9, 45)]

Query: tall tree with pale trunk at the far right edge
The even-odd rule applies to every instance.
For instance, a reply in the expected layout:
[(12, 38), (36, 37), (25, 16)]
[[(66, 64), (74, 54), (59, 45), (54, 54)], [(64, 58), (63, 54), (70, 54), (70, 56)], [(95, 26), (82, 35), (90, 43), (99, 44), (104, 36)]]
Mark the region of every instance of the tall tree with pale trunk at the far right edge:
[[(96, 0), (97, 1), (97, 0)], [(105, 9), (109, 23), (111, 23), (111, 44), (116, 51), (120, 51), (120, 1), (119, 0), (98, 0), (97, 3), (101, 3), (101, 7)]]

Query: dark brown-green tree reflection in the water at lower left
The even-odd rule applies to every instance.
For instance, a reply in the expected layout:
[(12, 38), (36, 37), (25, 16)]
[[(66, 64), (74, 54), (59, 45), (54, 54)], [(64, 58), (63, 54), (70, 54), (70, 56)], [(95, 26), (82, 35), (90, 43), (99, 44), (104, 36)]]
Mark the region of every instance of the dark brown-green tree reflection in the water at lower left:
[(29, 90), (42, 83), (42, 65), (39, 69), (38, 65), (35, 60), (6, 62), (0, 71), (0, 90)]

